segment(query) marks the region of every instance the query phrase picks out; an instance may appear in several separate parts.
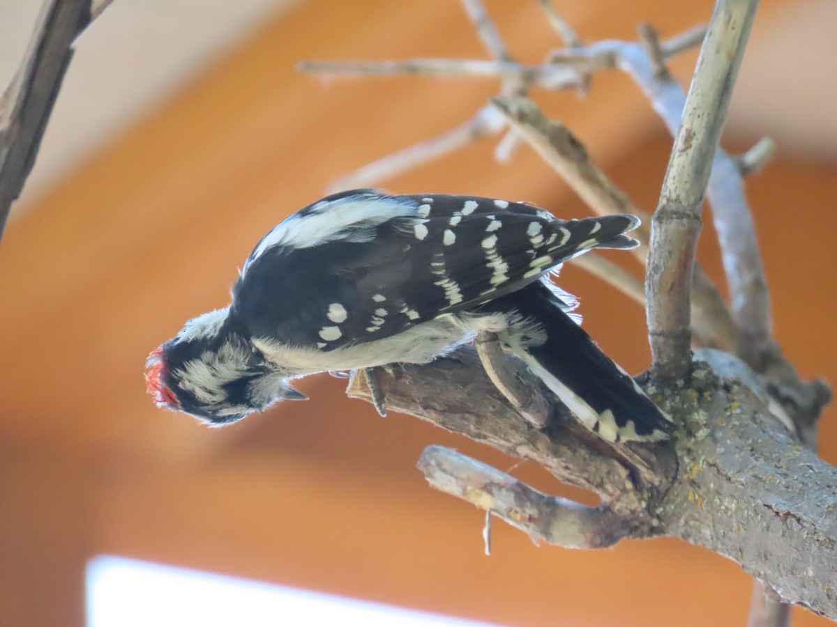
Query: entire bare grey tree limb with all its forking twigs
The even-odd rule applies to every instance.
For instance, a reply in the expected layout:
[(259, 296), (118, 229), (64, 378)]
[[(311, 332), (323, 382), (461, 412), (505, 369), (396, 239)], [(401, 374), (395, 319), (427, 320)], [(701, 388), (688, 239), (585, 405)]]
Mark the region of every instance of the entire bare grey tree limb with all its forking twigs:
[[(674, 449), (665, 442), (629, 446), (599, 441), (568, 421), (566, 408), (539, 381), (515, 359), (501, 354), (496, 342), (485, 339), (478, 341), (477, 349), (496, 387), (481, 385), (480, 377), (473, 372), (468, 379), (465, 373), (474, 367), (474, 359), (468, 349), (461, 349), (449, 359), (419, 371), (408, 366), (403, 380), (388, 381), (388, 400), (397, 409), (536, 461), (563, 481), (587, 487), (602, 497), (604, 505), (599, 508), (553, 500), (452, 451), (427, 451), (422, 467), (434, 486), (505, 517), (535, 538), (592, 547), (620, 537), (670, 533), (736, 559), (747, 572), (763, 579), (768, 590), (780, 591), (776, 598), (755, 606), (764, 610), (762, 617), (781, 620), (787, 612), (780, 600), (805, 604), (834, 617), (837, 610), (831, 590), (837, 586), (825, 584), (822, 590), (812, 592), (805, 584), (810, 576), (818, 581), (833, 578), (826, 568), (828, 560), (834, 558), (837, 543), (833, 517), (824, 516), (822, 499), (819, 505), (804, 502), (804, 487), (790, 480), (805, 476), (807, 487), (813, 485), (834, 501), (834, 469), (810, 456), (802, 466), (788, 471), (783, 456), (796, 456), (800, 449), (770, 417), (781, 416), (812, 445), (816, 416), (830, 399), (824, 382), (808, 385), (798, 379), (771, 339), (769, 294), (742, 178), (763, 166), (772, 145), (760, 142), (738, 160), (716, 148), (757, 0), (720, 0), (708, 30), (692, 29), (665, 42), (658, 40), (653, 28), (643, 25), (639, 29), (641, 43), (604, 41), (590, 46), (583, 45), (548, 0), (538, 3), (570, 48), (553, 51), (540, 66), (517, 64), (479, 0), (465, 0), (493, 62), (416, 59), (400, 65), (356, 64), (342, 69), (502, 79), (503, 95), (492, 102), (503, 117), (492, 128), (500, 132), (511, 125), (511, 131), (501, 140), (496, 156), (507, 158), (517, 138), (526, 139), (599, 213), (639, 212), (594, 166), (583, 145), (566, 127), (547, 120), (537, 104), (522, 96), (532, 85), (585, 89), (593, 73), (605, 68), (621, 69), (634, 78), (676, 135), (652, 232), (646, 222), (638, 236), (650, 241), (652, 248), (645, 288), (650, 298), (655, 372), (663, 375), (662, 380), (680, 378), (677, 386), (651, 386), (648, 391), (682, 421), (683, 429), (677, 433)], [(687, 97), (671, 78), (665, 61), (701, 41), (701, 58)], [(556, 69), (560, 71), (554, 72)], [(459, 137), (461, 141), (444, 147), (453, 150), (468, 140), (467, 135)], [(379, 161), (377, 176), (387, 176), (388, 163), (393, 164), (393, 171), (400, 167), (398, 159)], [(705, 193), (715, 210), (734, 317), (694, 260)], [(580, 261), (642, 300), (636, 280), (621, 268), (608, 267), (595, 257), (582, 257)], [(715, 374), (699, 366), (692, 381), (697, 387), (683, 387), (692, 369), (690, 322), (700, 344), (735, 350), (766, 377), (752, 373), (735, 359), (722, 364), (718, 354), (709, 352), (701, 355), (714, 362)], [(732, 358), (726, 355), (725, 359)], [(434, 374), (436, 370), (441, 375)], [(428, 379), (421, 380), (420, 375), (428, 375)], [(716, 375), (738, 377), (747, 380), (748, 385), (735, 380), (721, 384)], [(531, 410), (534, 401), (523, 391), (527, 385), (539, 390), (536, 395), (552, 404), (553, 420), (549, 424), (543, 420), (548, 411)], [(462, 399), (461, 390), (475, 396)], [(359, 389), (351, 392), (365, 394)], [(476, 408), (475, 403), (480, 407)], [(567, 441), (573, 446), (564, 446)], [(742, 450), (751, 451), (752, 456), (735, 452)], [(736, 459), (730, 457), (733, 452)], [(737, 474), (737, 469), (744, 467), (742, 458), (752, 462), (747, 471), (757, 468), (755, 478)], [(805, 469), (808, 475), (804, 475)], [(776, 481), (776, 473), (783, 472), (783, 481)], [(739, 515), (736, 507), (746, 512)], [(833, 502), (825, 506), (826, 512), (833, 509)], [(783, 528), (772, 529), (772, 533), (778, 533), (769, 538), (754, 535), (772, 528), (776, 518), (785, 526), (788, 521), (798, 523), (802, 531)], [(610, 533), (614, 524), (621, 527), (619, 533)], [(560, 528), (553, 529), (555, 525)], [(815, 531), (814, 543), (811, 530)], [(752, 542), (752, 538), (758, 538), (758, 542)], [(764, 551), (771, 539), (776, 550)], [(826, 558), (816, 543), (823, 543)], [(803, 556), (799, 562), (808, 568), (775, 568), (775, 554)], [(760, 619), (757, 611), (752, 619)]]

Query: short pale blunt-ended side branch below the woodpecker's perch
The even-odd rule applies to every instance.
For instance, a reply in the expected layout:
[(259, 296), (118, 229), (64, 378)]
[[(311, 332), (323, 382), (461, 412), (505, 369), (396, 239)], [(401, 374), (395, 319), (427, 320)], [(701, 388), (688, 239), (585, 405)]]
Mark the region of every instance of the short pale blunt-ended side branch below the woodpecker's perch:
[(419, 470), (437, 490), (501, 517), (539, 541), (566, 548), (612, 547), (630, 525), (606, 506), (549, 497), (514, 477), (444, 446), (428, 446)]

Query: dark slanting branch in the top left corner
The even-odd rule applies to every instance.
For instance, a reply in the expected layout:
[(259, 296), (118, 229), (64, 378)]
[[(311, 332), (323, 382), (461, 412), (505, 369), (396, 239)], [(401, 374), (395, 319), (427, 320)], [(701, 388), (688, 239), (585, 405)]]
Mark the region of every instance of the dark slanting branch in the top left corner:
[(0, 237), (12, 203), (23, 190), (52, 113), (74, 39), (108, 2), (44, 3), (23, 62), (0, 98)]

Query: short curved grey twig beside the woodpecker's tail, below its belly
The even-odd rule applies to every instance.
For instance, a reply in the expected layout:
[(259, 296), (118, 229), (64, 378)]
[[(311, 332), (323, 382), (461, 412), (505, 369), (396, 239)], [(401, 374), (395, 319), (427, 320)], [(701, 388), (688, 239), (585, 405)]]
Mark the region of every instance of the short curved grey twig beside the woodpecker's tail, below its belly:
[(538, 429), (547, 426), (551, 414), (549, 404), (537, 390), (524, 385), (517, 377), (515, 370), (509, 367), (497, 334), (481, 331), (477, 335), (475, 346), (485, 373), (497, 386), (497, 390), (506, 396), (511, 406), (518, 410), (532, 426)]

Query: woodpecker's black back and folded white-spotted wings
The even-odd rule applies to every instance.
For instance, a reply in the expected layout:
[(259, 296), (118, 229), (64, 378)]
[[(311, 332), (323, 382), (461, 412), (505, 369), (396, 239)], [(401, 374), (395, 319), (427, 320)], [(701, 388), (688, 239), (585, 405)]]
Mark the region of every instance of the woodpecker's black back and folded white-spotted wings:
[(472, 196), (356, 190), (265, 236), (234, 288), (231, 324), (284, 344), (336, 349), (486, 303), (593, 247), (629, 248), (633, 216), (562, 221)]

